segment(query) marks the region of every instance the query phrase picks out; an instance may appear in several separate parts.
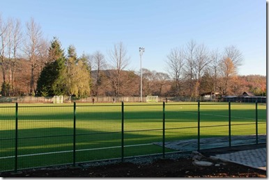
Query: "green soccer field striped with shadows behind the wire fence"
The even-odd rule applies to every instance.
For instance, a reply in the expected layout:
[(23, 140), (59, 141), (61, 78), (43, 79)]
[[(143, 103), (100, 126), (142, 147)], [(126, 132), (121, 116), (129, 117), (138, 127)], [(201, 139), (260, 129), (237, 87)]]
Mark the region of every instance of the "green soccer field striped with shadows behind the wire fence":
[[(0, 171), (173, 152), (153, 143), (197, 139), (198, 126), (229, 136), (228, 103), (19, 104), (17, 133), (15, 104), (0, 112)], [(232, 103), (230, 119), (231, 136), (266, 133), (265, 104)]]

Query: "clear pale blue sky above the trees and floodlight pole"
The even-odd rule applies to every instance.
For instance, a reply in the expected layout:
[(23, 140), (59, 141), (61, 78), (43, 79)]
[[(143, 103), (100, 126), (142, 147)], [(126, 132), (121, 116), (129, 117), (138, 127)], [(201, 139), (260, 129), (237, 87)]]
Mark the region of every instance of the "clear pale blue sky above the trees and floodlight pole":
[(9, 0), (1, 1), (4, 19), (31, 17), (45, 38), (55, 36), (77, 54), (107, 52), (123, 42), (130, 56), (128, 69), (143, 67), (167, 72), (166, 56), (190, 40), (208, 49), (233, 45), (244, 57), (239, 74), (266, 75), (266, 1), (264, 0)]

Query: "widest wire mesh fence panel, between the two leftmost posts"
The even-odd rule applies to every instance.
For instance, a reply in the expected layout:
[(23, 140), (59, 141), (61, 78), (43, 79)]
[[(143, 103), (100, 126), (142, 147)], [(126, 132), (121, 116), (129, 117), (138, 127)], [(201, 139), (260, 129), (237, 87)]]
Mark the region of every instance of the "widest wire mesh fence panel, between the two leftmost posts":
[(72, 106), (19, 106), (18, 169), (72, 163)]

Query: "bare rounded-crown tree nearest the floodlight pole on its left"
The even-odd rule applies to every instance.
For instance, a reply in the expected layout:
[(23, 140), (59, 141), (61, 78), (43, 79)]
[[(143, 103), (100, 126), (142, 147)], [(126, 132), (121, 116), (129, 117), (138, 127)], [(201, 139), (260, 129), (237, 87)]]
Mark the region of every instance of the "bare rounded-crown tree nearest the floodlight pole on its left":
[(109, 57), (112, 63), (113, 70), (109, 72), (109, 76), (112, 80), (115, 96), (121, 95), (121, 87), (124, 82), (121, 81), (121, 74), (123, 69), (129, 65), (129, 57), (127, 56), (127, 50), (123, 46), (123, 42), (114, 44), (114, 49), (109, 51)]

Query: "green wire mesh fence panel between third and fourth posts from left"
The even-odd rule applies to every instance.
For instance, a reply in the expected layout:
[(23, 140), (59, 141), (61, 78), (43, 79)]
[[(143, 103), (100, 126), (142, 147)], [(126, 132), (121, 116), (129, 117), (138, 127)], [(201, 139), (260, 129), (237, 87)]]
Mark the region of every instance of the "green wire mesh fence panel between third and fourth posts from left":
[(162, 104), (124, 106), (124, 156), (162, 153)]

